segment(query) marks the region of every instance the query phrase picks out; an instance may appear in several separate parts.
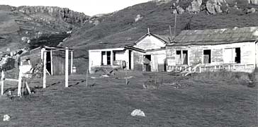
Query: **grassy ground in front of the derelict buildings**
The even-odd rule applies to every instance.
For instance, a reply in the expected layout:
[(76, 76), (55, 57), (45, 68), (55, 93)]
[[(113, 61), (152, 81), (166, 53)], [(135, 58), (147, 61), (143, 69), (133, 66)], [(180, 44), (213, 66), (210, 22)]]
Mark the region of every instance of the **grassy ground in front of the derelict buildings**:
[[(161, 74), (164, 84), (174, 82), (166, 73), (159, 73), (159, 79)], [(85, 75), (72, 75), (68, 88), (63, 77), (48, 78), (49, 87), (35, 89), (34, 95), (1, 97), (0, 115), (11, 115), (11, 121), (0, 126), (258, 126), (257, 87), (189, 78), (179, 80), (184, 85), (179, 89), (160, 85), (158, 90), (146, 90), (142, 83), (153, 73), (128, 75), (133, 76), (129, 85), (124, 72), (89, 78), (94, 87), (86, 87)], [(33, 80), (30, 86), (41, 83)], [(146, 117), (130, 116), (134, 109)]]

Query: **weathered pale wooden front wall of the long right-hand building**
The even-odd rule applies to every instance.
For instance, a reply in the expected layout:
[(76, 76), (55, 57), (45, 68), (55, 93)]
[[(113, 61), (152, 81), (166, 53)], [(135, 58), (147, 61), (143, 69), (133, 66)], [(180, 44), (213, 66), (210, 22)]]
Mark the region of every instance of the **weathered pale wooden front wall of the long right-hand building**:
[(225, 55), (224, 50), (226, 48), (241, 49), (241, 61), (243, 64), (255, 63), (255, 43), (254, 42), (240, 42), (232, 44), (215, 44), (215, 45), (189, 45), (189, 46), (168, 46), (167, 49), (167, 63), (169, 66), (176, 65), (176, 50), (187, 50), (189, 65), (195, 65), (196, 63), (203, 63), (203, 50), (211, 49), (211, 63), (207, 65), (220, 65), (224, 63)]

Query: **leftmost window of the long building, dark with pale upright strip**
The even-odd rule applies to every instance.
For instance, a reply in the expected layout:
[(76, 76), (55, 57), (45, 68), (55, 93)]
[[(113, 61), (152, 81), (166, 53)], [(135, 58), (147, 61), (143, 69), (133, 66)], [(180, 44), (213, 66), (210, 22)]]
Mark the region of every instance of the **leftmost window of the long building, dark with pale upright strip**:
[(177, 50), (176, 51), (176, 64), (188, 64), (188, 51)]

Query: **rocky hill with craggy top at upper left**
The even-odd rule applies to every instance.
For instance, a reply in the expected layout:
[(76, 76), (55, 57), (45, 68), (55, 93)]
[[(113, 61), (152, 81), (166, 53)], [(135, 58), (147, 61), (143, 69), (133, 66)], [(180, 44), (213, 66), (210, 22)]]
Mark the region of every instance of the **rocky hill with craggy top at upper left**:
[[(0, 6), (0, 51), (35, 47), (42, 42), (62, 42), (89, 16), (69, 8), (49, 6)], [(51, 35), (51, 36), (50, 36)], [(50, 38), (47, 38), (50, 37)], [(51, 42), (51, 40), (53, 40)]]

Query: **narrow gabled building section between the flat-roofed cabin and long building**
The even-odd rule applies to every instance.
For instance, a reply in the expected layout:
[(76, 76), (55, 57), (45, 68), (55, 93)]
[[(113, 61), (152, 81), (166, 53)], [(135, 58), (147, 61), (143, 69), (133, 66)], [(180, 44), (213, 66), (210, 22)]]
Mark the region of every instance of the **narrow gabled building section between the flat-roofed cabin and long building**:
[(148, 33), (135, 42), (136, 48), (143, 49), (145, 54), (142, 63), (142, 71), (166, 71), (166, 44), (169, 42), (168, 36), (161, 36)]

